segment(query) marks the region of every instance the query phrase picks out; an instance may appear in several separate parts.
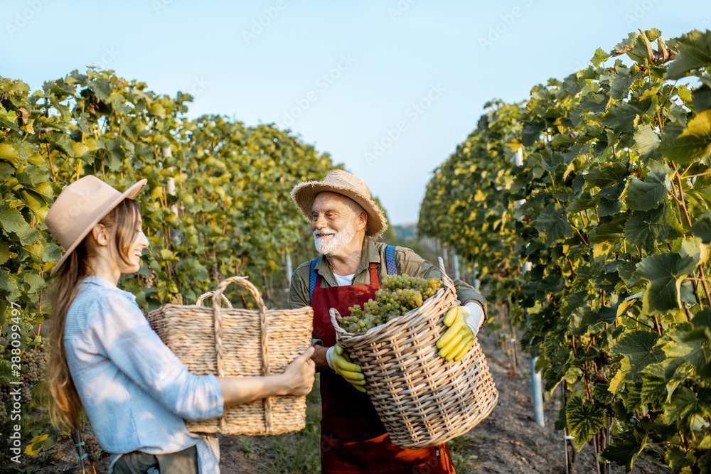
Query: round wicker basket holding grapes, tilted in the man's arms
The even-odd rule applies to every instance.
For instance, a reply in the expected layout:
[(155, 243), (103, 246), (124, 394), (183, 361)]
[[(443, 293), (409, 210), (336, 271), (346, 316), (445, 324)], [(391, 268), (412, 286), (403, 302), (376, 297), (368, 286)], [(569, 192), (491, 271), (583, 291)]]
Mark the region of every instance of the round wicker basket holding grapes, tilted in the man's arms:
[(456, 438), (488, 416), (498, 393), (486, 360), (474, 345), (458, 362), (437, 355), (437, 340), (447, 328), (444, 315), (458, 304), (454, 282), (444, 271), (442, 289), (422, 306), (377, 326), (351, 334), (331, 308), (338, 344), (365, 375), (365, 389), (393, 443), (426, 448)]

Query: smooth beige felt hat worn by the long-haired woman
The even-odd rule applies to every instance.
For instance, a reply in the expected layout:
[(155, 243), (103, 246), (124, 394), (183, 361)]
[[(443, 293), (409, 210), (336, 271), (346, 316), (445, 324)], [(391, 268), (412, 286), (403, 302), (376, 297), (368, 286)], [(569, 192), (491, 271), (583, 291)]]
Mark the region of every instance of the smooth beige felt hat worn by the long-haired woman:
[(84, 237), (124, 199), (133, 199), (148, 183), (141, 179), (125, 193), (87, 175), (68, 185), (47, 212), (45, 224), (65, 250), (52, 269), (54, 276)]

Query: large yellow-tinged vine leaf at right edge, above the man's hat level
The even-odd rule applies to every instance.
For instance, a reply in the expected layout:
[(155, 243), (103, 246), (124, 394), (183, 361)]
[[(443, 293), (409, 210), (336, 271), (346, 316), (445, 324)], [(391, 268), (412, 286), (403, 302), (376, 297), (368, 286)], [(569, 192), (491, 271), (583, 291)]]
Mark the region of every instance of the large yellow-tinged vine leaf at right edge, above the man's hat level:
[(691, 119), (681, 134), (675, 138), (664, 134), (661, 153), (679, 166), (686, 166), (711, 151), (711, 109)]

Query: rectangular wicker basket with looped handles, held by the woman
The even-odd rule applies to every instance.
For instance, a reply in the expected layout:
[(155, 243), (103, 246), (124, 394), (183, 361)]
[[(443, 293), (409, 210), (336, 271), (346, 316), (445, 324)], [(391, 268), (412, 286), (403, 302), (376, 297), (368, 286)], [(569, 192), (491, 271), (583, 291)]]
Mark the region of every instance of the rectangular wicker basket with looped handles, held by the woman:
[[(221, 308), (220, 301), (226, 299), (223, 291), (230, 283), (250, 291), (258, 309)], [(151, 327), (191, 373), (218, 377), (279, 374), (311, 345), (314, 311), (310, 306), (268, 310), (259, 291), (242, 276), (223, 280), (210, 293), (198, 298), (198, 304), (212, 296), (213, 308), (167, 304), (149, 313)], [(220, 418), (186, 420), (186, 426), (196, 433), (231, 435), (298, 431), (306, 426), (306, 397), (269, 397), (230, 406)]]

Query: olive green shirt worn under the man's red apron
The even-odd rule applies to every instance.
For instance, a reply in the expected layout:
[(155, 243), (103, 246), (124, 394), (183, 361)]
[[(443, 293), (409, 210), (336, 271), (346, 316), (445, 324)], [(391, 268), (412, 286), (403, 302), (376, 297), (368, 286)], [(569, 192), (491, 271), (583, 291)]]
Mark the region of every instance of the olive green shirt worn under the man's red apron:
[[(355, 270), (353, 276), (353, 285), (369, 285), (370, 271), (368, 267), (371, 262), (378, 264), (378, 279), (383, 280), (387, 276), (387, 267), (385, 266), (385, 247), (387, 244), (383, 242), (373, 242), (370, 237), (363, 239), (363, 250), (360, 253), (360, 264)], [(381, 262), (383, 262), (381, 264)], [(397, 266), (397, 274), (418, 276), (424, 279), (440, 279), (439, 269), (436, 266), (427, 262), (411, 249), (405, 247), (395, 247), (395, 264)], [(321, 288), (331, 288), (338, 286), (336, 277), (333, 276), (331, 265), (328, 260), (321, 255), (319, 262), (316, 264), (316, 271), (321, 275)], [(301, 308), (303, 306), (311, 306), (311, 295), (309, 294), (309, 274), (311, 273), (311, 262), (304, 262), (296, 267), (294, 275), (292, 275), (292, 283), (289, 286), (289, 308)], [(486, 315), (486, 300), (481, 294), (476, 291), (471, 285), (464, 281), (454, 280), (454, 288), (456, 296), (460, 303), (464, 301), (475, 300), (481, 303)]]

